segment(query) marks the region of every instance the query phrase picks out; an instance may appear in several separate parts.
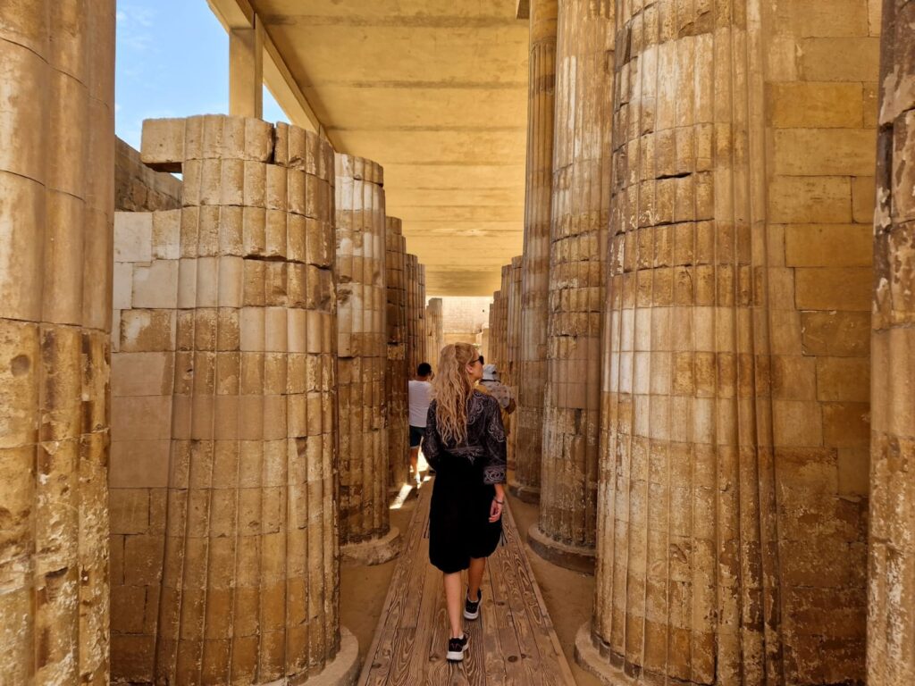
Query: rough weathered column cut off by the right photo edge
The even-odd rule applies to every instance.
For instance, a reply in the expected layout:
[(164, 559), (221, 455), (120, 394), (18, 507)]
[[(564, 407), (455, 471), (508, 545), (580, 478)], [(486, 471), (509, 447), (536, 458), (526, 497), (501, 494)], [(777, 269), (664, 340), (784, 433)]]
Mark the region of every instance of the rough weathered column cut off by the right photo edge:
[(915, 683), (915, 4), (883, 4), (874, 316), (867, 683)]

